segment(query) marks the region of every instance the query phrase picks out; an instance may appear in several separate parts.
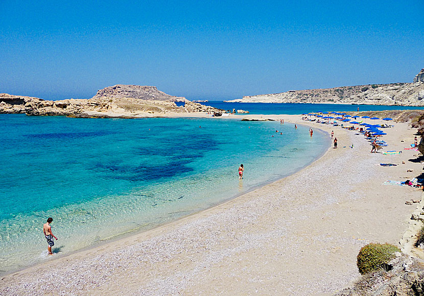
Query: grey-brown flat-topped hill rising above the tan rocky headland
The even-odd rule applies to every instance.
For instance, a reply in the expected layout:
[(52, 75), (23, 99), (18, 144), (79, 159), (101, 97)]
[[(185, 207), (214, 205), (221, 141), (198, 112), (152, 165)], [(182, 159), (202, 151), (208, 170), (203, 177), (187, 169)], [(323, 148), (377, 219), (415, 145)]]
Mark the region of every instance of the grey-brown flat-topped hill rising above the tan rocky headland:
[(183, 96), (173, 96), (164, 93), (156, 88), (156, 86), (140, 86), (140, 85), (124, 85), (117, 84), (98, 90), (92, 99), (110, 98), (136, 98), (145, 101), (167, 101), (167, 102), (185, 102)]

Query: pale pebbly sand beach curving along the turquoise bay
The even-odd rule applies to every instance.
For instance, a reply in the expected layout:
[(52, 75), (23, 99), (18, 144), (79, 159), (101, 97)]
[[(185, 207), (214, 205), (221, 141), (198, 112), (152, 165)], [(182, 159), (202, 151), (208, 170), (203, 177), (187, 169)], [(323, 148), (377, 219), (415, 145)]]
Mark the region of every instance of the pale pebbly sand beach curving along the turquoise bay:
[(370, 143), (353, 131), (299, 115), (242, 117), (261, 116), (334, 130), (339, 148), (214, 208), (2, 277), (0, 294), (331, 295), (351, 283), (359, 276), (360, 248), (398, 244), (415, 209), (405, 201), (421, 197), (421, 190), (382, 184), (420, 174), (422, 164), (409, 161), (418, 152), (403, 150), (415, 129), (385, 129), (385, 151), (403, 153), (393, 156), (397, 166), (382, 167), (391, 156), (371, 154)]

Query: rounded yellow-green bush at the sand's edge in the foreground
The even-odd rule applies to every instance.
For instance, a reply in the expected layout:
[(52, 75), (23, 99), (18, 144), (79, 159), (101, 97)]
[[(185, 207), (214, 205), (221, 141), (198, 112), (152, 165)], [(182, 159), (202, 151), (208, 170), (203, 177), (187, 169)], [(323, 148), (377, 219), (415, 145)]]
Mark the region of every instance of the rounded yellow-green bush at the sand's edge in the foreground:
[(369, 243), (362, 247), (357, 256), (359, 273), (365, 275), (374, 270), (388, 270), (389, 261), (393, 259), (395, 252), (401, 252), (397, 246), (389, 243)]

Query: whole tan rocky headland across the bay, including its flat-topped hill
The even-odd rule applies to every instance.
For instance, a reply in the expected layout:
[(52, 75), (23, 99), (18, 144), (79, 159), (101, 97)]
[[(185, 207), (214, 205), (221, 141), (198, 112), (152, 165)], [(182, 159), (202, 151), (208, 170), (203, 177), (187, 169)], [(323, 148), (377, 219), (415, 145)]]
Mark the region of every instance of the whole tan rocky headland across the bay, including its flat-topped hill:
[[(177, 106), (175, 102), (184, 102)], [(134, 117), (142, 114), (158, 116), (174, 113), (220, 112), (157, 90), (154, 86), (115, 85), (97, 92), (92, 98), (46, 101), (38, 97), (0, 93), (0, 113), (27, 115), (65, 115), (72, 117)], [(96, 115), (86, 115), (96, 112)], [(85, 115), (84, 115), (85, 114)]]

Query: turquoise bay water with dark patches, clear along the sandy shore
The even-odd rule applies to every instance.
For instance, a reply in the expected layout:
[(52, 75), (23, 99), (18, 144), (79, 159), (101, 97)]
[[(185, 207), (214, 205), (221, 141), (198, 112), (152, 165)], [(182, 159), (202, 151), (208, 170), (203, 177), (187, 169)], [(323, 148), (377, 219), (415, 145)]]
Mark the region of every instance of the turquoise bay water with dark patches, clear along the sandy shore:
[(0, 114), (0, 126), (0, 273), (45, 260), (49, 216), (68, 254), (293, 174), (329, 145), (308, 127), (228, 118)]

